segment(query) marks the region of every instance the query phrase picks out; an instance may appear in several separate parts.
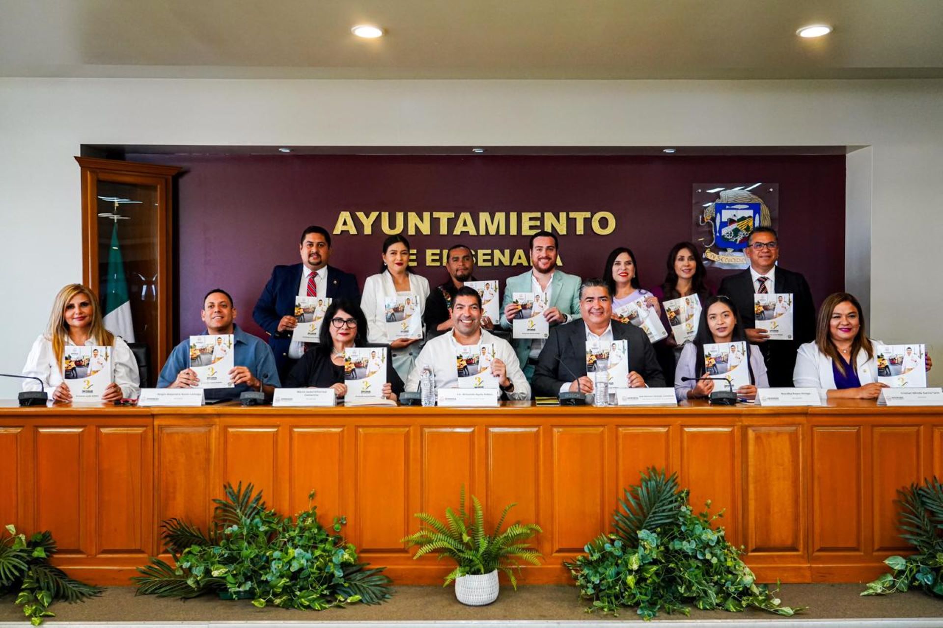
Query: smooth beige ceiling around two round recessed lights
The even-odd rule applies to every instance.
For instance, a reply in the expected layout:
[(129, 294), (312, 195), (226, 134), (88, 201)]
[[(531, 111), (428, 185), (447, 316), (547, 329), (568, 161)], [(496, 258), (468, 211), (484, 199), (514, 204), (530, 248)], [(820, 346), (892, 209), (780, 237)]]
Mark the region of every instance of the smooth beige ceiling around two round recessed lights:
[(0, 76), (943, 77), (943, 0), (0, 0)]

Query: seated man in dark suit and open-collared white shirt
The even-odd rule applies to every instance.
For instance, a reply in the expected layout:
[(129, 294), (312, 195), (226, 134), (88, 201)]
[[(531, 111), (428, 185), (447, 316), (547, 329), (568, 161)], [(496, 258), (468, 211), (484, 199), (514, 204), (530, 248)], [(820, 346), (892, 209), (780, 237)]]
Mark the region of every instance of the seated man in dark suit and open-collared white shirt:
[(587, 340), (628, 341), (628, 385), (632, 388), (664, 386), (665, 377), (648, 335), (635, 325), (612, 320), (612, 296), (606, 282), (585, 280), (580, 285), (579, 299), (581, 317), (550, 329), (534, 370), (534, 395), (554, 397), (568, 391), (592, 393), (592, 378), (587, 376)]

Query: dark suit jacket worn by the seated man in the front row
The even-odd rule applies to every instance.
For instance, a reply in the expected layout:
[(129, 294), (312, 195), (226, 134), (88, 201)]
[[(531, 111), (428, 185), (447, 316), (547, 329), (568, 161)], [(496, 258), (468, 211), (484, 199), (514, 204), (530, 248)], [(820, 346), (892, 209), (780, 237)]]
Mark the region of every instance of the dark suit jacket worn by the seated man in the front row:
[[(635, 371), (652, 388), (665, 386), (665, 377), (654, 355), (648, 335), (630, 323), (612, 321), (612, 336), (627, 340), (629, 371)], [(560, 362), (563, 362), (562, 364)], [(572, 381), (573, 376), (587, 374), (587, 327), (582, 318), (550, 328), (547, 344), (543, 346), (534, 370), (534, 396), (555, 397), (560, 387)]]

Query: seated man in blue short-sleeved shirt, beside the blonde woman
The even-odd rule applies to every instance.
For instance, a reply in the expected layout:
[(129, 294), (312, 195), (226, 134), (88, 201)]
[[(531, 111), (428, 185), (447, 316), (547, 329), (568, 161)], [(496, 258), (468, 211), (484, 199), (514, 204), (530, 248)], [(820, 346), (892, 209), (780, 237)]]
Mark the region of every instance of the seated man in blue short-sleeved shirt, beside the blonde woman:
[[(203, 298), (200, 317), (207, 324), (207, 335), (232, 334), (235, 366), (229, 371), (232, 388), (207, 388), (207, 400), (238, 399), (246, 391), (260, 391), (266, 397), (281, 385), (272, 349), (260, 338), (236, 325), (236, 308), (225, 290), (210, 290)], [(174, 347), (160, 370), (157, 388), (198, 388), (200, 379), (190, 368), (190, 338)]]

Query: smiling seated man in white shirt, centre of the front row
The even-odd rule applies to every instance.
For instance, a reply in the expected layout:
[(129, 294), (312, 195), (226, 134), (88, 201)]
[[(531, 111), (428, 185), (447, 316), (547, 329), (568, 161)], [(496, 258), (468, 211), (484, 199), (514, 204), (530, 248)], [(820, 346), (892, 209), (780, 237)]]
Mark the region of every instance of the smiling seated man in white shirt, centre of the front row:
[(447, 333), (433, 338), (422, 347), (416, 365), (406, 378), (405, 390), (419, 390), (419, 378), (426, 366), (436, 376), (437, 388), (456, 388), (458, 370), (455, 356), (460, 346), (492, 345), (494, 359), (491, 361), (491, 374), (498, 378), (498, 385), (506, 398), (524, 400), (530, 398), (530, 384), (521, 371), (521, 363), (514, 349), (506, 340), (491, 334), (481, 327), (481, 295), (478, 291), (463, 286), (455, 292), (452, 299), (453, 328)]

